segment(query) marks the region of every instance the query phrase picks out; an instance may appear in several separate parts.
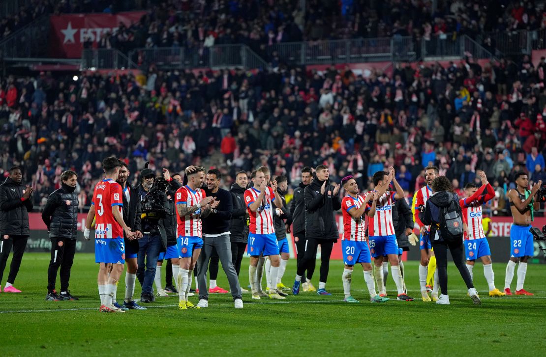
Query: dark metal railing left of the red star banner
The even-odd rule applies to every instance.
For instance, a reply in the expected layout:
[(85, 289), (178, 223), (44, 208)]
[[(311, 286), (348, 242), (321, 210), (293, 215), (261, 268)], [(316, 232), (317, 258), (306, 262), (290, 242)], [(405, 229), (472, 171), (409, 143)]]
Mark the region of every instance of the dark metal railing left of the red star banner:
[(44, 15), (0, 42), (3, 57), (46, 57), (49, 50), (49, 16)]

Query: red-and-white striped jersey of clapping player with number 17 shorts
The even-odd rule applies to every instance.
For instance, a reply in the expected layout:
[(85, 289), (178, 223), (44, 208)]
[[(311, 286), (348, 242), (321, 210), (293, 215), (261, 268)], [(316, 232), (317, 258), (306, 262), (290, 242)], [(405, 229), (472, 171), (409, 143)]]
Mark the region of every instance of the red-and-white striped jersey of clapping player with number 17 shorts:
[(275, 201), (275, 193), (271, 187), (267, 187), (267, 192), (264, 195), (262, 205), (256, 212), (251, 211), (250, 205), (256, 201), (260, 195), (260, 191), (251, 187), (245, 191), (245, 204), (250, 215), (250, 225), (248, 226), (248, 232), (254, 234), (271, 234), (275, 233), (275, 227), (273, 226), (273, 207), (272, 203)]

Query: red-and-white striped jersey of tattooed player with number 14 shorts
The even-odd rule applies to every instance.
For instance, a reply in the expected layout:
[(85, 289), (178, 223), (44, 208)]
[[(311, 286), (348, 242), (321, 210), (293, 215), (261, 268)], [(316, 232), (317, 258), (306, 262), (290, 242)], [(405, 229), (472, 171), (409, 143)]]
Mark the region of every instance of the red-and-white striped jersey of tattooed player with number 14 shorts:
[[(175, 203), (176, 207), (179, 204), (186, 204), (187, 207), (201, 202), (201, 199), (205, 198), (206, 194), (203, 189), (197, 189), (193, 191), (189, 186), (182, 186), (176, 190)], [(203, 227), (201, 226), (201, 209), (195, 211), (192, 214), (180, 217), (176, 213), (176, 222), (178, 226), (176, 228), (177, 237), (199, 237), (203, 238)]]

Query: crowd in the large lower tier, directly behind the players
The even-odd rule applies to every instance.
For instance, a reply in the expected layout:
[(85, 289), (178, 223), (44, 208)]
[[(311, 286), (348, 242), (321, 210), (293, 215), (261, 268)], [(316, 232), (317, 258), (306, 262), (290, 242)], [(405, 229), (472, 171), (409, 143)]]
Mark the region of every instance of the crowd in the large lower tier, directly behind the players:
[(502, 212), (514, 172), (545, 176), (545, 66), (526, 58), (484, 68), (402, 63), (391, 76), (333, 66), (197, 74), (151, 66), (147, 77), (8, 77), (0, 89), (2, 170), (24, 167), (40, 205), (73, 168), (84, 206), (109, 154), (133, 158), (133, 173), (147, 159), (173, 172), (205, 161), (221, 167), (227, 185), (259, 165), (296, 185), (302, 167), (324, 162), (332, 179), (352, 173), (367, 187), (373, 172), (394, 165), (408, 195), (433, 162), (457, 188), (483, 169)]

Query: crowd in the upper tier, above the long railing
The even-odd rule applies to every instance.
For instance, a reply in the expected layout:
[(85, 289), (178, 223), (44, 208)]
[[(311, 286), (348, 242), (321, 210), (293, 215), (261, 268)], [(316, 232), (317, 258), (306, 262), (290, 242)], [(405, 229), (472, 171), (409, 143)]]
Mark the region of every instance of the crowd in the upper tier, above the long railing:
[[(25, 2), (22, 2), (25, 4)], [(0, 20), (0, 40), (43, 14), (114, 13), (148, 9), (139, 23), (105, 34), (99, 48), (128, 52), (138, 47), (179, 46), (201, 50), (217, 44), (246, 44), (263, 58), (276, 43), (351, 38), (412, 36), (430, 40), (436, 35), (480, 39), (494, 52), (487, 33), (546, 27), (542, 4), (461, 0), (432, 1), (307, 0), (33, 0)], [(85, 46), (91, 46), (91, 43)], [(270, 59), (270, 58), (269, 58)]]

